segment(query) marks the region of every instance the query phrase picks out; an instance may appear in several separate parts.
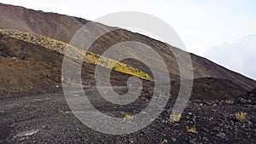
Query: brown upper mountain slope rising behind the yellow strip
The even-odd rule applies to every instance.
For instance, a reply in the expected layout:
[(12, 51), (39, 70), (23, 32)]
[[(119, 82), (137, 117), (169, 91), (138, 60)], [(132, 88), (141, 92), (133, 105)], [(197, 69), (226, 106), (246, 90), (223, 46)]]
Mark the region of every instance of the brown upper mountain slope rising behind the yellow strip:
[[(0, 28), (15, 29), (24, 32), (34, 32), (39, 35), (55, 38), (65, 43), (69, 43), (69, 41), (73, 37), (73, 34), (77, 32), (81, 26), (84, 26), (84, 24), (89, 21), (63, 14), (44, 13), (42, 11), (25, 9), (22, 7), (16, 7), (3, 3), (0, 3), (0, 19)], [(96, 30), (99, 28), (111, 29), (111, 27), (95, 23), (95, 26), (90, 27), (90, 32), (93, 34), (93, 32), (96, 32)], [(84, 41), (86, 41), (86, 39)], [(125, 41), (137, 41), (140, 43), (145, 43), (154, 50), (156, 50), (166, 62), (166, 66), (170, 72), (170, 77), (172, 78), (172, 80), (177, 82), (179, 81), (179, 69), (177, 66), (177, 61), (172, 54), (172, 51), (168, 47), (166, 47), (166, 43), (161, 43), (160, 41), (154, 40), (150, 37), (143, 36), (138, 33), (129, 32), (124, 29), (118, 29), (113, 32), (108, 32), (107, 34), (97, 39), (89, 50), (93, 53), (101, 55), (104, 50), (108, 49), (113, 44)], [(177, 50), (183, 53), (182, 50), (174, 47), (172, 47), (172, 50)], [(131, 53), (131, 50), (128, 49), (127, 53)], [(256, 82), (251, 78), (246, 78), (239, 73), (232, 72), (224, 68), (223, 66), (218, 66), (218, 64), (215, 64), (212, 61), (202, 58), (200, 56), (193, 54), (190, 55), (194, 67), (195, 79), (201, 79), (195, 81), (196, 87), (194, 87), (193, 89), (202, 89), (206, 88), (207, 86), (211, 86), (212, 91), (214, 91), (218, 87), (221, 87), (219, 83), (208, 83), (207, 78), (213, 78), (216, 79), (216, 81), (224, 80), (223, 84), (235, 84), (240, 87), (240, 90), (238, 91), (241, 92), (256, 87)], [(140, 63), (138, 63), (137, 61), (128, 60), (123, 62), (131, 66), (138, 67), (139, 69), (142, 69), (143, 72), (150, 73), (148, 67), (140, 66)], [(159, 71), (161, 71), (161, 66), (156, 65), (155, 67), (156, 69), (159, 69)], [(232, 87), (232, 89), (237, 89), (237, 87)], [(195, 91), (196, 93), (199, 93), (199, 91)], [(229, 91), (232, 90), (230, 89)]]

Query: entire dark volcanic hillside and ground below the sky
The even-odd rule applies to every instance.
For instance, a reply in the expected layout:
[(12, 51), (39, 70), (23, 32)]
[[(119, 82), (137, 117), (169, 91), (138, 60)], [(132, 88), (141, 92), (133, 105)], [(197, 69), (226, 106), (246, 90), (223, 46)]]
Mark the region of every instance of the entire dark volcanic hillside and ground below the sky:
[[(89, 21), (81, 18), (0, 3), (0, 19), (0, 144), (256, 143), (256, 89), (253, 89), (256, 88), (256, 81), (251, 78), (189, 54), (195, 77), (182, 79), (172, 52), (176, 51), (177, 56), (188, 53), (174, 47), (170, 50), (166, 43), (124, 29), (108, 32), (89, 49), (80, 49), (69, 41)], [(112, 29), (99, 23), (92, 24), (88, 29), (92, 35), (96, 35), (98, 29)], [(86, 38), (82, 40), (84, 43), (89, 41)], [(166, 94), (168, 91), (159, 93), (158, 89), (153, 90), (155, 84), (166, 88), (164, 83), (156, 83), (165, 82), (162, 81), (165, 77), (154, 79), (153, 72), (143, 61), (117, 61), (102, 55), (113, 44), (125, 41), (144, 43), (161, 55), (172, 79), (171, 95)], [(135, 52), (133, 45), (128, 46), (129, 49), (123, 51), (117, 49), (114, 55), (142, 56), (152, 61), (156, 72), (164, 71), (154, 57), (146, 56), (144, 51)], [(67, 69), (74, 70), (70, 78), (61, 75), (66, 74), (61, 71), (66, 50), (67, 62), (71, 64)], [(82, 62), (79, 63), (79, 60)], [(81, 69), (73, 69), (76, 66)], [(102, 95), (99, 89), (109, 87), (96, 87), (96, 75), (100, 75), (95, 72), (96, 66), (102, 71), (110, 71), (111, 88), (117, 94), (127, 94), (128, 88), (142, 89), (142, 92), (137, 95), (136, 91), (129, 90), (129, 94), (137, 96), (129, 104), (108, 101), (121, 96), (112, 93), (104, 97), (104, 92), (108, 93), (108, 90)], [(78, 89), (81, 85), (76, 76), (82, 80), (81, 90)], [(140, 78), (143, 87), (128, 83), (131, 76)], [(100, 82), (106, 80), (108, 76), (102, 77)], [(194, 85), (190, 99), (185, 100), (188, 103), (177, 102), (180, 84), (189, 84), (192, 80)], [(70, 95), (62, 89), (62, 84), (70, 86)], [(162, 96), (168, 98), (165, 106), (159, 103)], [(126, 100), (127, 97), (125, 95), (121, 99)], [(71, 99), (73, 101), (69, 101)], [(173, 114), (176, 104), (182, 104), (184, 111)], [(145, 109), (148, 112), (143, 112)], [(154, 112), (159, 109), (159, 115), (153, 118)], [(139, 118), (137, 114), (142, 114), (144, 118)], [(122, 124), (115, 123), (117, 121), (111, 124), (107, 117), (101, 118), (102, 115), (119, 119)], [(85, 123), (96, 125), (90, 127), (79, 116), (87, 118)], [(124, 126), (125, 123), (132, 126)], [(121, 135), (123, 131), (142, 124), (147, 125)], [(102, 128), (119, 130), (120, 133), (109, 135), (100, 132)]]

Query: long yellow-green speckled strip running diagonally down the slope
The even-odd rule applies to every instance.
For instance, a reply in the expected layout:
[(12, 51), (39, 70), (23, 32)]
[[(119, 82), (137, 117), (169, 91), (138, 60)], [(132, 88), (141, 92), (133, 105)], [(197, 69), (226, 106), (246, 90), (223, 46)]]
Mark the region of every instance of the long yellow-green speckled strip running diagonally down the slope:
[(15, 37), (16, 39), (26, 41), (27, 43), (33, 43), (47, 49), (55, 50), (61, 55), (67, 55), (71, 59), (83, 59), (85, 62), (103, 66), (108, 69), (113, 69), (117, 72), (122, 72), (137, 76), (138, 78), (145, 80), (154, 81), (147, 73), (137, 69), (136, 67), (126, 65), (125, 63), (116, 60), (108, 59), (102, 55), (96, 55), (89, 51), (76, 48), (73, 45), (55, 40), (50, 37), (44, 37), (32, 32), (20, 32), (12, 29), (0, 29), (0, 33), (9, 37)]

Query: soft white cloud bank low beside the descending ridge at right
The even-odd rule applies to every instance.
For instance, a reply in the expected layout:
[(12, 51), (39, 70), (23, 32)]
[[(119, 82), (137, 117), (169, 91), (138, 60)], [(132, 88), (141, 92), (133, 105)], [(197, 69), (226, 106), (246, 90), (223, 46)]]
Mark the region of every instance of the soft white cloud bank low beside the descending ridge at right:
[(222, 66), (256, 79), (256, 35), (212, 47), (204, 55)]

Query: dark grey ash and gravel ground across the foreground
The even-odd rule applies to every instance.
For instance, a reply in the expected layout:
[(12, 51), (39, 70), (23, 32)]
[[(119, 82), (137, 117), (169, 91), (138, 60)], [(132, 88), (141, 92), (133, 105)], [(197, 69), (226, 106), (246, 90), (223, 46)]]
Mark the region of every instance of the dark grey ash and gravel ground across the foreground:
[[(91, 101), (97, 101), (99, 109), (107, 107), (102, 101)], [(256, 143), (256, 90), (237, 97), (234, 104), (189, 101), (177, 123), (169, 121), (172, 103), (170, 99), (160, 117), (143, 130), (106, 135), (74, 116), (61, 89), (7, 98), (0, 101), (0, 143)], [(136, 111), (137, 105), (130, 107)], [(238, 122), (236, 112), (246, 112), (246, 120)], [(188, 132), (189, 128), (198, 133)]]

